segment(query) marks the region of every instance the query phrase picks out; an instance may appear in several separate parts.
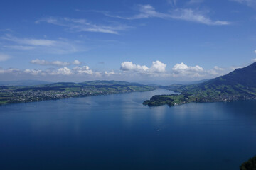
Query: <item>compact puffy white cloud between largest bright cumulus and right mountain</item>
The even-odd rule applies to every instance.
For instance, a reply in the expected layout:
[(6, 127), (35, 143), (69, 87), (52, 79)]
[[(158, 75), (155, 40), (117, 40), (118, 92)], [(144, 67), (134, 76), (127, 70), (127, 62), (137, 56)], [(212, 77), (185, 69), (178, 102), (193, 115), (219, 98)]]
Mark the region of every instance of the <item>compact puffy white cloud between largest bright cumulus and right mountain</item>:
[(181, 62), (181, 64), (174, 65), (174, 67), (172, 68), (172, 71), (176, 75), (187, 75), (187, 76), (192, 75), (197, 77), (197, 76), (200, 76), (204, 70), (202, 67), (198, 65), (191, 67)]

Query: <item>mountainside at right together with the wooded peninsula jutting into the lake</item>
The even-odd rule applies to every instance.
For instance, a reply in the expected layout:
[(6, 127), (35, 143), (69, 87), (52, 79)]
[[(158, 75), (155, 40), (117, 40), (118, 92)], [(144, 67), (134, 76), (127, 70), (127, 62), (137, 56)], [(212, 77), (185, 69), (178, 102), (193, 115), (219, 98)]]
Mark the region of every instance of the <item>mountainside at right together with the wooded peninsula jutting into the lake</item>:
[(227, 75), (203, 83), (166, 87), (176, 95), (157, 95), (144, 101), (149, 106), (183, 104), (189, 102), (233, 101), (256, 98), (256, 62), (248, 67), (235, 69)]

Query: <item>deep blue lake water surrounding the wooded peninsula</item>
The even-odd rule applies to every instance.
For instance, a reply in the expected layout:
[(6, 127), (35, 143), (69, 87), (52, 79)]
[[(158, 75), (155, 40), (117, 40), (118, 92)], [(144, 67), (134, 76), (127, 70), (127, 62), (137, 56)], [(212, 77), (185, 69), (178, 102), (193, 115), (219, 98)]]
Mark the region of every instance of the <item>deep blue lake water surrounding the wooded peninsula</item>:
[(170, 93), (0, 106), (0, 169), (235, 170), (256, 154), (256, 101), (142, 105)]

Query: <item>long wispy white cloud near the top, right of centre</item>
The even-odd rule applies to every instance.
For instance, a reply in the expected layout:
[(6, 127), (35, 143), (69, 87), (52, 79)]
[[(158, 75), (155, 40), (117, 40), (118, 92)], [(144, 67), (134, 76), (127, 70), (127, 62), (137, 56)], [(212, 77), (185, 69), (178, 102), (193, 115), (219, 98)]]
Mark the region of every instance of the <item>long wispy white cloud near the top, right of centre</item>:
[[(176, 4), (176, 1), (171, 1), (172, 4)], [(107, 15), (110, 16), (110, 15)], [(196, 23), (203, 23), (209, 26), (221, 26), (228, 25), (228, 21), (213, 21), (212, 19), (204, 16), (201, 11), (194, 11), (187, 8), (176, 8), (169, 13), (159, 13), (151, 5), (140, 5), (139, 14), (131, 17), (112, 16), (116, 18), (122, 18), (127, 20), (141, 19), (141, 18), (172, 18), (176, 20), (191, 21)]]

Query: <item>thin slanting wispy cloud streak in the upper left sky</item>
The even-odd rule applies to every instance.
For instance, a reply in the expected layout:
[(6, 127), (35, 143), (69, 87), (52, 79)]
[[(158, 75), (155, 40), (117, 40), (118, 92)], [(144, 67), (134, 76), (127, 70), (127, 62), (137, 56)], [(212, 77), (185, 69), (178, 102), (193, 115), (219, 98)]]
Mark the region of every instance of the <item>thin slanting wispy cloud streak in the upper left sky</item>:
[(95, 33), (110, 33), (110, 34), (118, 34), (119, 30), (127, 30), (131, 27), (123, 25), (123, 24), (113, 24), (113, 25), (97, 25), (94, 23), (90, 23), (85, 19), (75, 19), (75, 18), (41, 18), (36, 21), (36, 23), (51, 23), (58, 26), (63, 26), (68, 28), (70, 31), (74, 32), (95, 32)]

